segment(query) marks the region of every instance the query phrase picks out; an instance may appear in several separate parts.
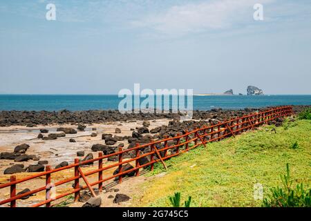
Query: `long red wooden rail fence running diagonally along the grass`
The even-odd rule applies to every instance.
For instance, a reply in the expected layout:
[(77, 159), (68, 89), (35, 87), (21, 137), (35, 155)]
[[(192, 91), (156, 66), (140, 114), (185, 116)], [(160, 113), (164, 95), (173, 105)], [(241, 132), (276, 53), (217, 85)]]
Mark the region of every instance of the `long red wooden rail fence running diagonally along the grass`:
[[(46, 200), (43, 200), (37, 204), (33, 204), (32, 207), (38, 207), (46, 205), (46, 207), (51, 206), (51, 202), (58, 200), (60, 198), (64, 198), (67, 195), (74, 194), (75, 201), (79, 198), (79, 193), (83, 189), (91, 189), (91, 186), (98, 185), (98, 189), (102, 191), (102, 184), (111, 179), (115, 179), (117, 177), (117, 181), (119, 183), (122, 182), (122, 177), (128, 173), (135, 172), (135, 176), (140, 175), (140, 169), (146, 168), (150, 166), (150, 170), (153, 170), (153, 166), (156, 162), (160, 162), (162, 160), (167, 160), (171, 157), (175, 157), (180, 155), (180, 153), (185, 153), (197, 146), (204, 145), (209, 142), (215, 142), (223, 140), (225, 137), (235, 137), (243, 133), (244, 131), (254, 130), (256, 126), (261, 126), (262, 124), (267, 124), (267, 122), (277, 119), (279, 117), (285, 117), (288, 115), (292, 115), (292, 106), (281, 106), (278, 108), (272, 108), (267, 111), (256, 112), (250, 115), (244, 115), (243, 117), (236, 117), (234, 119), (229, 119), (225, 122), (221, 122), (219, 124), (211, 124), (209, 126), (203, 126), (202, 128), (196, 128), (192, 131), (185, 131), (185, 134), (178, 134), (175, 137), (164, 137), (163, 140), (157, 140), (151, 142), (149, 144), (136, 144), (135, 147), (125, 149), (119, 148), (119, 150), (115, 153), (111, 153), (109, 155), (103, 155), (102, 152), (98, 153), (98, 157), (92, 160), (86, 160), (84, 162), (79, 162), (79, 159), (75, 159), (74, 164), (70, 164), (68, 166), (64, 166), (59, 169), (50, 169), (50, 166), (46, 166), (46, 171), (37, 173), (36, 175), (30, 175), (28, 177), (24, 177), (20, 180), (16, 180), (15, 175), (10, 176), (10, 182), (6, 184), (1, 184), (0, 189), (10, 187), (10, 198), (3, 200), (0, 202), (0, 205), (9, 204), (10, 207), (17, 206), (17, 200), (24, 198), (28, 195), (32, 195), (35, 193), (39, 193), (41, 191), (46, 192)], [(171, 143), (172, 145), (169, 145)], [(147, 153), (141, 152), (145, 148), (149, 148)], [(135, 152), (135, 157), (123, 160), (124, 153)], [(160, 153), (160, 157), (158, 157), (158, 153)], [(108, 157), (118, 157), (118, 162), (104, 166), (103, 160)], [(149, 157), (147, 163), (140, 165), (140, 159), (143, 157)], [(146, 158), (145, 158), (146, 159)], [(98, 162), (98, 168), (93, 171), (88, 171), (83, 173), (79, 166), (83, 166), (86, 164), (90, 164), (93, 162)], [(122, 165), (135, 162), (135, 166), (132, 169), (122, 171)], [(118, 169), (118, 172), (115, 175), (110, 175), (108, 177), (103, 177), (103, 171), (108, 169)], [(60, 180), (55, 183), (51, 183), (51, 174), (57, 173), (59, 171), (65, 171), (68, 169), (74, 169), (73, 177), (68, 179)], [(86, 177), (89, 175), (93, 175), (97, 173), (98, 179), (96, 182), (88, 183)], [(23, 184), (29, 180), (33, 180), (38, 177), (45, 176), (46, 185), (41, 186), (37, 189), (33, 189), (27, 193), (16, 195), (16, 186), (17, 184)], [(86, 185), (80, 186), (79, 180), (83, 179), (86, 182)], [(68, 182), (74, 182), (73, 189), (56, 195), (54, 198), (51, 198), (51, 188), (54, 186), (59, 186), (62, 184), (66, 184)]]

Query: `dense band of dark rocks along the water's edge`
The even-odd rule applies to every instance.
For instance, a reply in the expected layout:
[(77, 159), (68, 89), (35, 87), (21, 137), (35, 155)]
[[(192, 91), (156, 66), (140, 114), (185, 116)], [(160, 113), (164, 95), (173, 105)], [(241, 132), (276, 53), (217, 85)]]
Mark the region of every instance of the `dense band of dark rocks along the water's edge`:
[[(301, 111), (305, 106), (294, 106)], [(230, 119), (264, 110), (265, 108), (245, 108), (243, 110), (211, 109), (210, 111), (194, 111), (193, 119)], [(131, 122), (133, 120), (180, 119), (177, 113), (126, 113), (114, 111), (0, 111), (0, 126), (47, 126), (52, 124), (102, 124), (107, 122)]]

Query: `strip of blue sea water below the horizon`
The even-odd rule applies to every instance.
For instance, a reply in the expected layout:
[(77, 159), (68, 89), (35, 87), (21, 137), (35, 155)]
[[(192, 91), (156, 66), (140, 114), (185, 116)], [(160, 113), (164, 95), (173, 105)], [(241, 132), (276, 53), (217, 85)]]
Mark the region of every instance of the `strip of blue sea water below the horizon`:
[[(0, 95), (0, 111), (113, 110), (117, 95)], [(280, 105), (311, 105), (311, 95), (194, 96), (194, 110), (240, 109)]]

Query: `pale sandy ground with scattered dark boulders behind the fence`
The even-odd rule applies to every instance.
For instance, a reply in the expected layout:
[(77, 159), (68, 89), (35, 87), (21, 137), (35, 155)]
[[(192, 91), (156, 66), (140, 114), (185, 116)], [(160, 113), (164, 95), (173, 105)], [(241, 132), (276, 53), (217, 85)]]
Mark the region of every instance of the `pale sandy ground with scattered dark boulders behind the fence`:
[[(151, 125), (149, 126), (149, 130), (151, 128), (155, 128), (157, 126), (161, 125), (167, 125), (169, 122), (169, 119), (157, 119), (156, 121), (149, 121)], [(53, 125), (53, 126), (37, 126), (33, 128), (26, 128), (25, 126), (10, 126), (10, 127), (2, 127), (0, 128), (0, 153), (3, 152), (12, 152), (15, 148), (15, 146), (19, 144), (28, 144), (30, 145), (30, 148), (28, 148), (28, 151), (26, 154), (37, 155), (40, 160), (48, 160), (48, 165), (55, 167), (60, 162), (67, 161), (70, 163), (74, 162), (75, 157), (77, 157), (76, 153), (77, 151), (85, 151), (85, 155), (88, 153), (93, 153), (94, 157), (97, 157), (97, 153), (94, 153), (91, 151), (91, 146), (93, 144), (104, 144), (104, 140), (102, 140), (102, 133), (112, 133), (113, 135), (118, 136), (124, 136), (124, 135), (131, 135), (133, 131), (131, 131), (131, 128), (136, 128), (137, 126), (142, 126), (142, 121), (137, 122), (113, 122), (113, 123), (107, 123), (107, 124), (92, 124), (92, 125), (86, 125), (86, 131), (78, 131), (77, 134), (73, 135), (66, 135), (66, 137), (59, 137), (57, 140), (41, 140), (37, 138), (37, 135), (39, 134), (40, 128), (46, 128), (49, 130), (49, 133), (58, 133), (55, 132), (56, 128), (59, 127), (59, 125)], [(71, 127), (71, 128), (77, 128), (76, 125), (62, 125), (62, 127)], [(96, 128), (95, 131), (92, 130), (92, 128)], [(115, 128), (120, 128), (122, 133), (115, 134)], [(91, 137), (91, 133), (97, 133), (97, 137)], [(44, 134), (48, 135), (48, 134)], [(69, 139), (74, 138), (76, 140), (75, 143), (70, 143)], [(117, 144), (120, 144), (122, 142), (117, 142)], [(127, 141), (123, 141), (124, 146), (127, 147), (128, 143)], [(115, 144), (115, 145), (117, 145)], [(115, 146), (114, 145), (114, 146)], [(83, 157), (79, 157), (82, 159)], [(115, 162), (104, 162), (104, 164), (112, 164)], [(8, 168), (9, 166), (12, 166), (13, 164), (24, 164), (25, 166), (28, 166), (30, 164), (37, 164), (35, 161), (28, 161), (28, 162), (14, 162), (14, 160), (0, 160), (0, 184), (9, 182), (10, 175), (3, 175), (3, 171)], [(94, 164), (96, 167), (97, 164)], [(83, 168), (84, 171), (90, 171), (94, 169), (93, 167), (86, 167)], [(104, 175), (111, 175), (115, 168), (104, 171)], [(66, 172), (62, 173), (55, 173), (52, 175), (52, 182), (56, 182), (57, 180), (62, 180), (64, 177), (72, 177), (73, 176), (73, 170), (66, 170)], [(28, 175), (32, 175), (35, 173), (16, 173), (17, 180), (21, 179), (22, 177), (27, 177)], [(97, 179), (97, 175), (93, 175), (88, 177), (90, 182), (95, 181)], [(143, 175), (140, 177), (135, 177), (135, 182), (143, 182), (144, 179), (147, 179)], [(81, 179), (82, 180), (82, 179)], [(82, 181), (81, 181), (82, 182)], [(117, 184), (119, 187), (114, 187), (117, 189), (120, 189), (119, 193), (127, 193), (131, 194), (131, 189), (134, 188), (134, 181), (126, 182), (124, 181), (122, 184)], [(127, 183), (127, 184), (126, 184)], [(82, 182), (83, 184), (83, 182)], [(62, 186), (57, 186), (57, 193), (64, 193), (68, 191), (68, 189), (71, 189), (72, 182), (68, 184), (63, 184)], [(111, 180), (109, 182), (104, 183), (104, 185), (114, 185), (114, 182)], [(133, 188), (129, 188), (129, 186), (132, 186)], [(39, 177), (35, 180), (25, 182), (23, 185), (17, 184), (17, 193), (25, 188), (29, 189), (35, 189), (39, 188), (40, 186), (45, 186), (45, 177)], [(124, 188), (122, 187), (124, 186)], [(102, 196), (103, 199), (103, 206), (120, 206), (116, 204), (112, 204), (113, 198), (109, 198), (109, 195), (115, 195), (117, 192), (109, 192), (109, 193), (102, 193), (104, 194)], [(10, 189), (0, 189), (0, 201), (3, 199), (8, 198), (10, 195)], [(37, 195), (30, 197), (28, 200), (18, 200), (17, 204), (18, 206), (29, 206), (30, 204), (34, 204), (36, 202), (39, 202), (40, 200), (43, 200), (45, 197), (44, 191), (41, 193), (37, 193)], [(81, 203), (80, 203), (81, 204)], [(79, 203), (73, 204), (73, 206), (80, 206)], [(122, 206), (122, 205), (121, 205)]]

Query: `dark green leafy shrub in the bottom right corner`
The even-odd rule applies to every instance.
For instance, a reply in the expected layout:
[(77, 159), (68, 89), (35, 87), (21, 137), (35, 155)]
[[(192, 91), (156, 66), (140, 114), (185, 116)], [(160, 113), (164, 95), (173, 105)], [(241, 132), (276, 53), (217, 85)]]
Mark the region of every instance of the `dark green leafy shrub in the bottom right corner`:
[(310, 207), (311, 189), (305, 190), (303, 184), (297, 184), (292, 188), (290, 178), (290, 166), (286, 164), (286, 174), (281, 175), (283, 187), (273, 187), (270, 189), (270, 195), (263, 200), (263, 206), (266, 207)]

